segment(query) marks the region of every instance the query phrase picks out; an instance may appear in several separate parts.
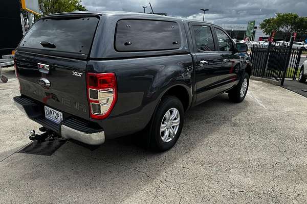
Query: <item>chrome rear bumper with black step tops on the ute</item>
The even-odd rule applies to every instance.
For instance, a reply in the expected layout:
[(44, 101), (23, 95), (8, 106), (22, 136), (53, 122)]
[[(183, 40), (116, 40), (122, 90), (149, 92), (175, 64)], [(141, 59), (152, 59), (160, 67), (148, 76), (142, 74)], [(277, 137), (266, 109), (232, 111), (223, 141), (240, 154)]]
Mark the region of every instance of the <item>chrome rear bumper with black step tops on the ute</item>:
[(105, 141), (104, 131), (90, 121), (76, 117), (68, 117), (59, 124), (52, 122), (43, 115), (43, 106), (30, 98), (14, 97), (16, 107), (31, 120), (56, 132), (65, 139), (74, 139), (89, 145), (100, 145)]

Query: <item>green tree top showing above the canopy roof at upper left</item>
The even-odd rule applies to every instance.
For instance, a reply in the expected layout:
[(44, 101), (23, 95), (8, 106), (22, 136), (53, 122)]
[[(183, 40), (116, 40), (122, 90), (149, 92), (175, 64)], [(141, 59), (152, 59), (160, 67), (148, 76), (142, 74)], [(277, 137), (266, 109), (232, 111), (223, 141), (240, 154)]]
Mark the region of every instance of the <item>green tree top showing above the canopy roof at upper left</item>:
[(81, 0), (38, 0), (42, 15), (53, 13), (86, 11), (81, 5)]

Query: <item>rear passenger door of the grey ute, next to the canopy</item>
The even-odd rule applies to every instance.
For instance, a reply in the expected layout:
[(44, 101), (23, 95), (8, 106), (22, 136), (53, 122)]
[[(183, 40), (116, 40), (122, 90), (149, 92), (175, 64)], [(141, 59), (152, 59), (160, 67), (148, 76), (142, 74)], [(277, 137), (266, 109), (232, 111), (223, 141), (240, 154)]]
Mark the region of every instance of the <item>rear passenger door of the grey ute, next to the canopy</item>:
[(210, 25), (191, 22), (189, 27), (195, 61), (194, 90), (196, 90), (196, 104), (199, 104), (218, 93), (222, 58), (216, 50), (214, 33)]

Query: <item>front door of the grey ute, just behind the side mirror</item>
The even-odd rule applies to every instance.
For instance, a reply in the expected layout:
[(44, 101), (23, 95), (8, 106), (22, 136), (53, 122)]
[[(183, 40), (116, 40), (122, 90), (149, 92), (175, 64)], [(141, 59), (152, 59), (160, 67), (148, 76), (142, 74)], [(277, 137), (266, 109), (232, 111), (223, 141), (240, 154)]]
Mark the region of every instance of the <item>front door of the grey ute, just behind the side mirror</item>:
[(222, 58), (221, 89), (227, 90), (236, 84), (240, 68), (240, 56), (235, 53), (232, 39), (220, 28), (214, 27), (217, 48)]

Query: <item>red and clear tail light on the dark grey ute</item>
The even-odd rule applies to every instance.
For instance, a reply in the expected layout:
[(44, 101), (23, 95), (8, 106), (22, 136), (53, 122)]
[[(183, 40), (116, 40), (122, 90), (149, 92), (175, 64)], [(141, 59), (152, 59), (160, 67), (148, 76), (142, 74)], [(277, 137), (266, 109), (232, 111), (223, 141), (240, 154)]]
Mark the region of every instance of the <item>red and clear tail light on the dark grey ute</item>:
[(86, 73), (86, 83), (91, 118), (108, 117), (117, 100), (115, 73)]

